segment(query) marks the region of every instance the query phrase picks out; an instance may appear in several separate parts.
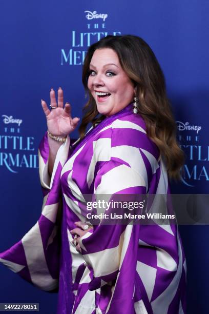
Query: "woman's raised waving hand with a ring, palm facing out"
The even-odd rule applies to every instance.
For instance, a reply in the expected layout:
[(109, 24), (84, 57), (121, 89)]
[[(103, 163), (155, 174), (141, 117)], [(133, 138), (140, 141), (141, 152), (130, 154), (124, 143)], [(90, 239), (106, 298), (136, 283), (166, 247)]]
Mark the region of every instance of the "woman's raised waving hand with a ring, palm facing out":
[(47, 118), (49, 132), (55, 136), (66, 136), (70, 134), (76, 128), (80, 119), (78, 117), (72, 119), (71, 106), (69, 103), (66, 103), (64, 107), (63, 91), (61, 87), (58, 89), (58, 106), (53, 89), (50, 91), (50, 100), (51, 107), (56, 107), (55, 109), (49, 110), (47, 103), (41, 100), (41, 106)]

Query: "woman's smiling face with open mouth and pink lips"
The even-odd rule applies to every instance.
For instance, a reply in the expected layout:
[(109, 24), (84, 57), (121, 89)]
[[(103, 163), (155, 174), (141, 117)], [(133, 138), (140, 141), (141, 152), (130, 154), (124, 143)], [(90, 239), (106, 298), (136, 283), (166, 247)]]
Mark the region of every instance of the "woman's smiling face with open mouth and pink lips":
[(113, 115), (133, 101), (134, 84), (123, 71), (114, 50), (96, 49), (89, 70), (88, 88), (99, 113)]

